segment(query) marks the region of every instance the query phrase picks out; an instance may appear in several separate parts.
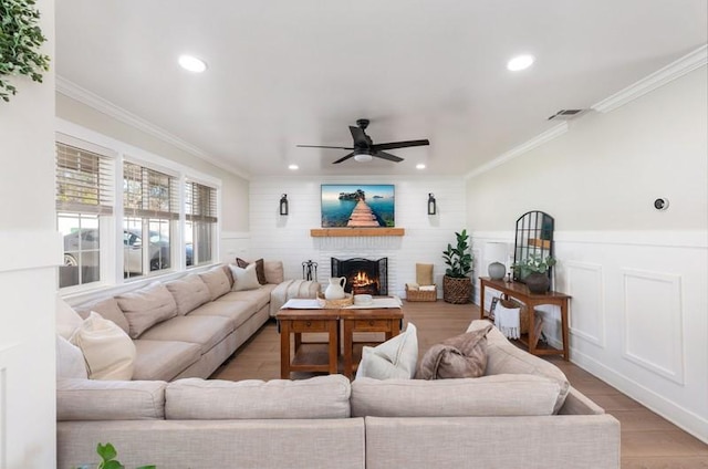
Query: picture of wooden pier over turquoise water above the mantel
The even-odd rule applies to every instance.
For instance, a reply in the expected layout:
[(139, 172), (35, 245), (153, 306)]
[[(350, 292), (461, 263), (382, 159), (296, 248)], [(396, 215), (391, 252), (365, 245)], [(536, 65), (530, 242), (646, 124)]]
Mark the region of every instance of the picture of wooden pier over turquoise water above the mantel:
[(323, 184), (322, 228), (395, 227), (393, 184)]

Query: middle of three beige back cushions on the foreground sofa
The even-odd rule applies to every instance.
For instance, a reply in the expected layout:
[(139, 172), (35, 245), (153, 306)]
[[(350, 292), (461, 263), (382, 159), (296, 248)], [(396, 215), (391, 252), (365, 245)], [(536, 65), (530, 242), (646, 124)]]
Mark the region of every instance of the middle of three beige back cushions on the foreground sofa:
[[(342, 375), (310, 379), (177, 379), (167, 386), (167, 419), (346, 418), (350, 381)], [(218, 403), (218, 405), (216, 405)]]

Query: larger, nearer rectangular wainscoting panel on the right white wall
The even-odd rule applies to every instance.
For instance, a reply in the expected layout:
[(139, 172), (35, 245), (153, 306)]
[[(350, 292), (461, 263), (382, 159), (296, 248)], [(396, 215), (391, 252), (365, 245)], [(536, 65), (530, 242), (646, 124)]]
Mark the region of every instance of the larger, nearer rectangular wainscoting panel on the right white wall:
[(623, 269), (623, 356), (684, 384), (680, 277)]

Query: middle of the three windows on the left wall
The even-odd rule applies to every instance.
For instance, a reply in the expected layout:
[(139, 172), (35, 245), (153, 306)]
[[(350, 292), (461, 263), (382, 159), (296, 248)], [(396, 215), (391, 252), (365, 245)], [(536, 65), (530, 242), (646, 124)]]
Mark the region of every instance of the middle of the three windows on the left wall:
[(176, 177), (124, 161), (123, 275), (126, 279), (174, 268), (170, 236), (177, 232), (179, 220), (178, 192)]

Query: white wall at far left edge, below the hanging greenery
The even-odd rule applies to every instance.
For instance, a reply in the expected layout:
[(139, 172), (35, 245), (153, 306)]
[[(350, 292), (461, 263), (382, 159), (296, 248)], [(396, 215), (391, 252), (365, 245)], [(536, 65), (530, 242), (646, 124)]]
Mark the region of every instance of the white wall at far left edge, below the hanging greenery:
[[(39, 0), (54, 56), (54, 2)], [(51, 64), (52, 69), (54, 64)], [(54, 72), (0, 102), (0, 467), (55, 466)], [(21, 194), (18, 196), (18, 194)], [(20, 249), (19, 249), (20, 248)]]

